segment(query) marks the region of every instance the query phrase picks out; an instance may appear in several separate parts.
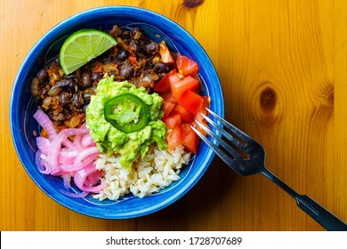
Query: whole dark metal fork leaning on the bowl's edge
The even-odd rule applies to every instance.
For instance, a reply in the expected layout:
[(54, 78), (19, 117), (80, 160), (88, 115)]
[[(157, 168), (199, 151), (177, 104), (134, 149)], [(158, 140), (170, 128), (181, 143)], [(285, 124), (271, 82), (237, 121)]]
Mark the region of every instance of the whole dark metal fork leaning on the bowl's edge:
[[(192, 129), (214, 150), (218, 157), (222, 158), (226, 165), (230, 166), (233, 171), (242, 176), (261, 173), (275, 182), (280, 188), (284, 189), (291, 197), (295, 198), (296, 204), (305, 213), (308, 213), (311, 218), (319, 222), (323, 228), (334, 231), (347, 231), (347, 224), (338, 219), (333, 213), (328, 212), (327, 209), (319, 205), (311, 197), (299, 195), (294, 189), (286, 185), (284, 181), (281, 181), (276, 175), (270, 173), (264, 165), (265, 150), (258, 142), (254, 141), (254, 139), (240, 131), (221, 116), (215, 114), (209, 108), (207, 110), (214, 116), (216, 122), (208, 116), (203, 116), (206, 118), (207, 123), (214, 127), (217, 133), (213, 133), (204, 124), (198, 121), (197, 123), (214, 141), (217, 141), (218, 145), (208, 140), (195, 127), (192, 127)], [(218, 133), (221, 133), (222, 136)]]

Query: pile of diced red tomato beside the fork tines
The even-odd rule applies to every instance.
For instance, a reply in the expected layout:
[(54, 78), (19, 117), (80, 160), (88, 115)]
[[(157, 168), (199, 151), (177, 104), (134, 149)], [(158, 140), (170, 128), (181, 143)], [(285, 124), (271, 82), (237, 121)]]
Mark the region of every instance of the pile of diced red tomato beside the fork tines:
[(166, 74), (154, 87), (154, 91), (163, 98), (162, 121), (166, 126), (165, 139), (168, 149), (176, 149), (182, 144), (187, 151), (196, 154), (200, 139), (190, 126), (194, 126), (206, 135), (197, 121), (208, 127), (202, 115), (207, 116), (206, 108), (209, 107), (208, 98), (198, 94), (201, 90), (198, 64), (182, 55), (178, 55), (174, 61), (165, 42), (159, 44), (159, 52), (164, 63), (176, 64), (176, 68)]

